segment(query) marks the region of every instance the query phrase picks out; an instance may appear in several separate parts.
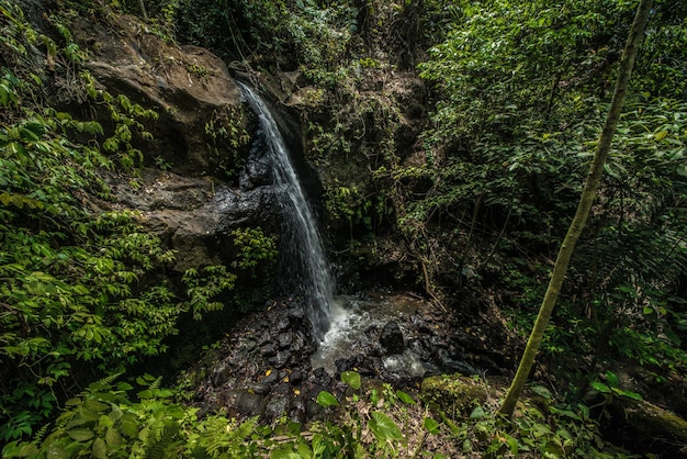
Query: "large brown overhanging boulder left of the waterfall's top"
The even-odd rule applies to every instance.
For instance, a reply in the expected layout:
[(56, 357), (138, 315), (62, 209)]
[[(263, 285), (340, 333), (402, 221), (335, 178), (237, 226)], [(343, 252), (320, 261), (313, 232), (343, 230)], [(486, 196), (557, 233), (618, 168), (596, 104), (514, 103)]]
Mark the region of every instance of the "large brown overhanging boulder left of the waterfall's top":
[[(249, 112), (219, 57), (168, 43), (128, 15), (113, 14), (106, 25), (76, 18), (71, 30), (75, 41), (91, 51), (86, 66), (98, 88), (158, 113), (155, 138), (137, 145), (148, 155), (147, 164), (155, 155), (174, 171), (221, 177), (240, 165), (250, 143)], [(106, 130), (109, 112), (95, 109)]]

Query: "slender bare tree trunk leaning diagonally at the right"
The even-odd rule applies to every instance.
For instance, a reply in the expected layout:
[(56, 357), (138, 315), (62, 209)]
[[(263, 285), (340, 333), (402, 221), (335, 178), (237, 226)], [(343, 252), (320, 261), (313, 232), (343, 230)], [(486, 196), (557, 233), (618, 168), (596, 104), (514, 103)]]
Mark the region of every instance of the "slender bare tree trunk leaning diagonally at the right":
[(551, 318), (551, 313), (555, 306), (559, 292), (561, 291), (563, 278), (565, 277), (565, 271), (567, 270), (567, 264), (573, 255), (573, 250), (575, 249), (575, 244), (585, 227), (589, 210), (592, 209), (592, 204), (596, 198), (596, 190), (601, 179), (604, 164), (606, 163), (606, 157), (608, 156), (608, 150), (610, 149), (613, 133), (618, 126), (618, 120), (620, 119), (620, 112), (622, 110), (626, 92), (628, 90), (628, 82), (630, 80), (630, 76), (632, 75), (632, 67), (634, 65), (634, 59), (637, 58), (639, 44), (644, 34), (644, 27), (646, 25), (652, 5), (653, 0), (641, 0), (639, 7), (637, 8), (634, 22), (630, 29), (630, 34), (622, 53), (622, 59), (620, 60), (613, 98), (610, 109), (608, 110), (604, 131), (601, 131), (601, 136), (599, 137), (599, 142), (596, 147), (594, 160), (589, 167), (589, 172), (579, 198), (577, 212), (575, 212), (575, 216), (573, 217), (570, 228), (567, 229), (567, 234), (561, 245), (561, 249), (559, 250), (559, 256), (555, 260), (553, 272), (551, 273), (549, 288), (547, 289), (541, 307), (539, 309), (539, 315), (534, 322), (530, 338), (527, 342), (527, 347), (522, 354), (518, 371), (510, 384), (508, 393), (506, 394), (504, 404), (498, 411), (506, 417), (513, 416), (516, 403), (520, 398), (520, 392), (522, 391), (525, 382), (527, 381), (532, 366), (534, 365), (534, 357), (537, 356), (539, 345), (541, 344), (544, 331), (549, 324), (549, 320)]

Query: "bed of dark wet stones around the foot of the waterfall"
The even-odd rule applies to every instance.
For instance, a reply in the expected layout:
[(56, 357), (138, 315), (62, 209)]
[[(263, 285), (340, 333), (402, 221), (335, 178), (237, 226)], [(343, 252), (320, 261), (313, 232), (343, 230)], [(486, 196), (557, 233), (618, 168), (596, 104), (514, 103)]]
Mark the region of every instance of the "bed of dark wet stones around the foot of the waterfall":
[[(246, 418), (260, 415), (270, 422), (282, 415), (297, 422), (320, 413), (317, 394), (341, 396), (347, 387), (344, 371), (358, 371), (364, 379), (390, 382), (397, 388), (418, 388), (426, 376), (461, 372), (489, 374), (488, 349), (480, 348), (473, 335), (455, 333), (450, 314), (406, 294), (357, 295), (345, 307), (364, 309), (356, 320), (367, 321), (353, 333), (344, 351), (314, 359), (317, 349), (303, 305), (293, 299), (270, 302), (262, 311), (240, 321), (222, 343), (223, 357), (195, 391), (201, 413), (225, 410)], [(388, 317), (392, 317), (390, 320)], [(474, 349), (464, 345), (473, 338)], [(322, 356), (320, 356), (322, 359)]]

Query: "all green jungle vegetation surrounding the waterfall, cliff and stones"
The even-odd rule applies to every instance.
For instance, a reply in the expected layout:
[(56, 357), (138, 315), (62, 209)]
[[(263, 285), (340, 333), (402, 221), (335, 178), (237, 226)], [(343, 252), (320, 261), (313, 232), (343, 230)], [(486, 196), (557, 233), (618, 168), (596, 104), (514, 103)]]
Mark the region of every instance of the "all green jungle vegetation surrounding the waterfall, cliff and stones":
[[(392, 240), (413, 273), (407, 287), (437, 307), (497, 299), (523, 342), (575, 214), (639, 1), (57, 0), (41, 24), (22, 3), (0, 0), (3, 457), (432, 457), (424, 447), (435, 435), (455, 455), (619, 457), (629, 454), (604, 438), (604, 416), (585, 396), (596, 392), (601, 405), (641, 398), (621, 387), (621, 366), (662, 390), (685, 387), (684, 2), (656, 0), (650, 11), (541, 344), (550, 389), (533, 385), (539, 401), (523, 401), (511, 421), (476, 406), (458, 419), (427, 410), (414, 425), (404, 419), (424, 401), (391, 387), (364, 392), (347, 373), (352, 395), (323, 392), (317, 403), (328, 414), (307, 432), (289, 419), (199, 418), (182, 388), (133, 373), (167, 351), (180, 317), (233, 306), (221, 299), (235, 288), (236, 267), (268, 270), (277, 254), (251, 229), (235, 238), (258, 242), (248, 251), (255, 259), (191, 269), (183, 291), (160, 276), (174, 254), (135, 213), (108, 205), (103, 180), (135, 177), (143, 157), (155, 156), (136, 138), (151, 135), (157, 114), (93, 85), (82, 66), (89, 49), (74, 42), (69, 19), (133, 14), (161, 40), (264, 72), (299, 70), (313, 88), (301, 120), (305, 153), (328, 171), (323, 209), (335, 244), (362, 258)], [(58, 109), (44, 65), (68, 75), (68, 90), (111, 122)], [(362, 90), (398, 74), (421, 78), (427, 92), (417, 141), (404, 148), (397, 101), (383, 85)], [(374, 411), (360, 415), (361, 400)]]

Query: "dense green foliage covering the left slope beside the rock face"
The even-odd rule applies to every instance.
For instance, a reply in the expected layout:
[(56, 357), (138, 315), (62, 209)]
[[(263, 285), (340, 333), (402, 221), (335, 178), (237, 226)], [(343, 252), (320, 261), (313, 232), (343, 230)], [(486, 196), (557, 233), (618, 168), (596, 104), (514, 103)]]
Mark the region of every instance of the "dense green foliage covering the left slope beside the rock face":
[[(0, 3), (0, 441), (32, 434), (57, 405), (98, 374), (122, 371), (166, 351), (187, 313), (221, 310), (236, 276), (225, 266), (189, 269), (182, 289), (159, 276), (174, 254), (147, 233), (140, 215), (117, 210), (104, 180), (135, 173), (157, 114), (95, 89), (80, 68), (86, 51), (58, 14), (56, 37), (34, 30), (12, 2)], [(66, 13), (68, 14), (68, 12)], [(47, 33), (47, 32), (46, 32)], [(55, 79), (111, 116), (108, 131), (49, 107)], [(275, 259), (258, 229), (237, 269)], [(250, 233), (246, 233), (250, 234)], [(262, 236), (261, 239), (256, 239)], [(252, 244), (252, 240), (257, 240)]]

